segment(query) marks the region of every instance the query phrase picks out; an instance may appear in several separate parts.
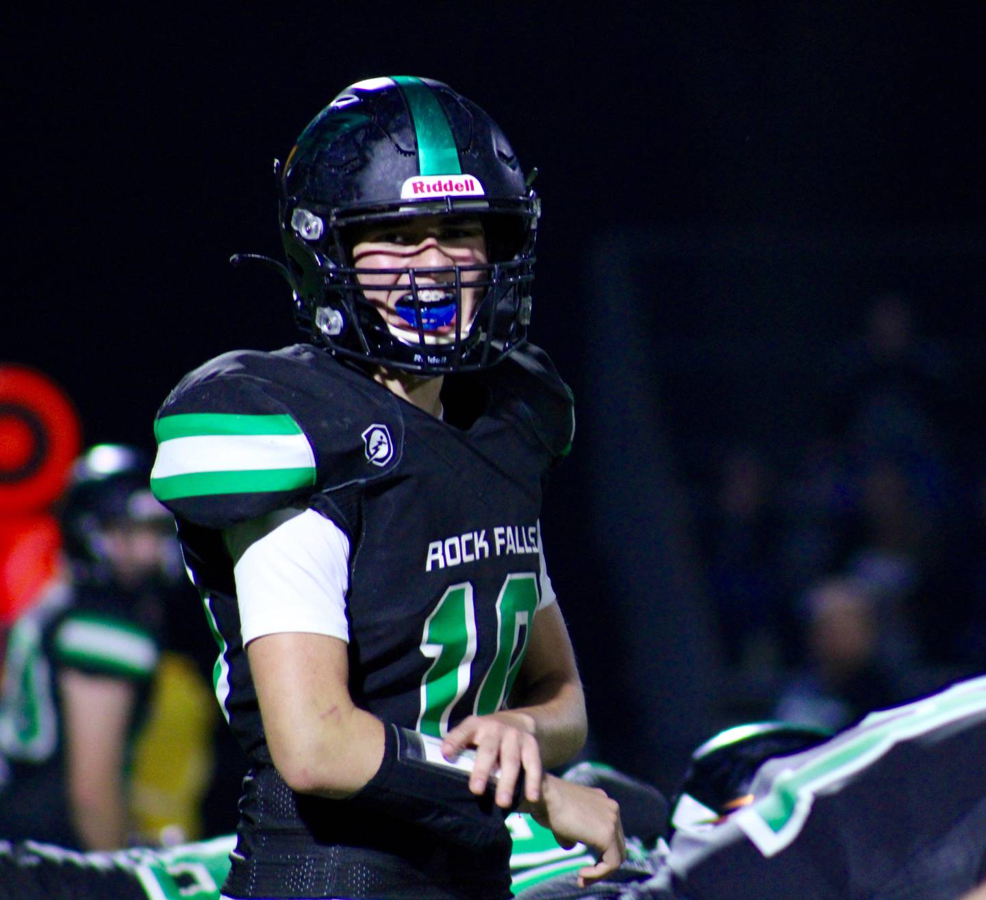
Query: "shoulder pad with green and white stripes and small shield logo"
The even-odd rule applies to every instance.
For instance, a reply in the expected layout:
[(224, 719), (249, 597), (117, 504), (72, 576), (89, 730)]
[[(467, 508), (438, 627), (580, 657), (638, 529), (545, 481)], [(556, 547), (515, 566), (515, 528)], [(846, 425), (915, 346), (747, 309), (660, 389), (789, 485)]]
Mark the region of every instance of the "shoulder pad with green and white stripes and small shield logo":
[(181, 380), (154, 430), (152, 490), (208, 528), (379, 479), (403, 449), (396, 398), (305, 344), (207, 362)]

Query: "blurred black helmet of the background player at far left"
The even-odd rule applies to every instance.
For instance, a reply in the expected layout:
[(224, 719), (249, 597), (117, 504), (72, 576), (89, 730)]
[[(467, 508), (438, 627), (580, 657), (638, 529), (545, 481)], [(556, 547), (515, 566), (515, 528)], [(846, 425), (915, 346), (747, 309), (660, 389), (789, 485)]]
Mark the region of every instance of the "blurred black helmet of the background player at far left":
[(108, 528), (122, 523), (171, 525), (171, 514), (151, 493), (150, 476), (147, 456), (123, 444), (97, 444), (75, 461), (61, 523), (65, 553), (78, 573), (103, 573)]

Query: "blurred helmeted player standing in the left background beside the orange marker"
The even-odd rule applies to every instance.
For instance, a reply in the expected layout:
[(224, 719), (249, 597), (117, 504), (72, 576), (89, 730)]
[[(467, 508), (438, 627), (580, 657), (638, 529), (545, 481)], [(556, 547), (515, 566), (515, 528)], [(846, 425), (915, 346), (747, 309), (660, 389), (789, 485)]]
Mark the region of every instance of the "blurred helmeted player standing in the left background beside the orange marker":
[(175, 538), (150, 465), (119, 445), (76, 463), (66, 574), (11, 632), (0, 701), (0, 838), (125, 845), (127, 766), (158, 659)]

